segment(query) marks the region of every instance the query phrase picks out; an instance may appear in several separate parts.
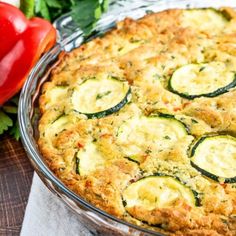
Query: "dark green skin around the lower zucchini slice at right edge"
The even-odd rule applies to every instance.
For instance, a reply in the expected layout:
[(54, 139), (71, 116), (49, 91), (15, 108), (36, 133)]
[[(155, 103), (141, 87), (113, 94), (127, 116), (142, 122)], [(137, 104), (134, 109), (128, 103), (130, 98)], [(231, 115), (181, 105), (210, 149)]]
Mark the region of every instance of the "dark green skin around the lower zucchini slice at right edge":
[[(198, 146), (201, 145), (201, 143), (203, 143), (208, 138), (214, 138), (214, 137), (217, 137), (217, 136), (219, 136), (219, 135), (211, 135), (211, 136), (203, 136), (203, 137), (201, 137), (194, 144), (194, 146), (192, 147), (192, 149), (190, 151), (190, 158), (195, 155), (195, 152), (196, 152)], [(220, 136), (222, 136), (222, 135), (220, 135)], [(227, 136), (227, 135), (223, 135), (223, 136)], [(223, 178), (223, 177), (217, 176), (215, 174), (212, 174), (212, 173), (204, 170), (203, 168), (201, 168), (198, 165), (196, 165), (193, 161), (190, 161), (190, 163), (191, 163), (192, 167), (194, 167), (196, 170), (201, 172), (203, 175), (205, 175), (206, 177), (208, 177), (208, 178), (210, 178), (210, 179), (212, 179), (214, 181), (220, 182), (220, 180)], [(232, 178), (224, 178), (224, 183), (235, 183), (235, 182), (236, 182), (236, 176), (232, 177)]]

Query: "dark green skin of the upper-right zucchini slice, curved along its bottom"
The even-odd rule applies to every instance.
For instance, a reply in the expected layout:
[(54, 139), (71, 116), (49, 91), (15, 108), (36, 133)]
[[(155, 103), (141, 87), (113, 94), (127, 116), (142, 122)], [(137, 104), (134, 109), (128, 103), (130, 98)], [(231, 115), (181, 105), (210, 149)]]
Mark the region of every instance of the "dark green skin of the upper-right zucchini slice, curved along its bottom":
[(175, 94), (178, 94), (180, 97), (189, 99), (189, 100), (193, 100), (195, 98), (199, 98), (199, 97), (208, 97), (208, 98), (213, 98), (213, 97), (217, 97), (221, 94), (227, 93), (229, 92), (230, 89), (234, 88), (236, 86), (236, 75), (234, 77), (234, 80), (228, 84), (227, 86), (223, 87), (223, 88), (219, 88), (216, 91), (212, 92), (212, 93), (205, 93), (205, 94), (199, 94), (199, 95), (189, 95), (189, 94), (185, 94), (185, 93), (180, 93), (178, 91), (176, 91), (172, 85), (171, 85), (171, 79), (168, 82), (168, 89)]

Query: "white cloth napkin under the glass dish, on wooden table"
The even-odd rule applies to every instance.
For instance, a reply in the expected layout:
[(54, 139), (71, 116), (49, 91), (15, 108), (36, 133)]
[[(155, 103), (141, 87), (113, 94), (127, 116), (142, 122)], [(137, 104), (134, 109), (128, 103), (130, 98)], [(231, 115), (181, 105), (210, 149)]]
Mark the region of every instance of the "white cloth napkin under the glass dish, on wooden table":
[(35, 173), (21, 236), (91, 236), (76, 214), (51, 193)]

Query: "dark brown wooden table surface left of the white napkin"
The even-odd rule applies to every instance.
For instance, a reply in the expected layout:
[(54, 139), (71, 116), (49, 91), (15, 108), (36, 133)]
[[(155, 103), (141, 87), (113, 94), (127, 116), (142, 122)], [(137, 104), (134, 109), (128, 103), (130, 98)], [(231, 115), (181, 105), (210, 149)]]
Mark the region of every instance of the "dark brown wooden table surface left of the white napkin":
[(0, 136), (0, 236), (19, 235), (32, 176), (21, 142)]

